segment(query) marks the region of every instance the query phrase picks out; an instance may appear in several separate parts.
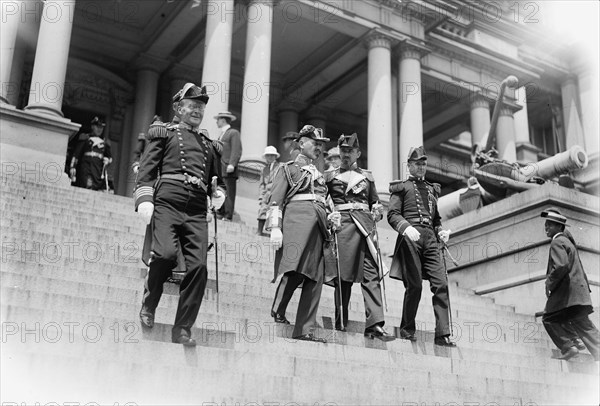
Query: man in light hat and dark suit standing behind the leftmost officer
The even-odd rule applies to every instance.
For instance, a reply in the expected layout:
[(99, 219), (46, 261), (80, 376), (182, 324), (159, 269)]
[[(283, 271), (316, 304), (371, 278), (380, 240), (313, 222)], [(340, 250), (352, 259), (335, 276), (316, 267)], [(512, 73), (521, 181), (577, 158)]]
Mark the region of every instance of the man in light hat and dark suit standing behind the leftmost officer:
[(229, 111), (217, 114), (217, 127), (221, 130), (219, 141), (223, 145), (221, 153), (221, 173), (227, 187), (227, 197), (219, 210), (219, 217), (225, 220), (233, 219), (235, 211), (235, 196), (237, 194), (238, 164), (242, 157), (242, 140), (240, 132), (231, 127), (236, 117)]

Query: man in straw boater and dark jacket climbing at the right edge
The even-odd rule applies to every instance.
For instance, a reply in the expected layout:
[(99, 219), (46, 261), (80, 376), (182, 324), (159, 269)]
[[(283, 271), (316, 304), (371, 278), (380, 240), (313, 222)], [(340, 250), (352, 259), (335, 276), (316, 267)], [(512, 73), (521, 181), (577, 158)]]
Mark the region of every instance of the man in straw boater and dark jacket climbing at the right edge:
[(544, 210), (542, 217), (546, 218), (544, 231), (552, 239), (546, 269), (544, 327), (562, 359), (579, 353), (577, 339), (581, 338), (598, 361), (600, 333), (589, 318), (593, 312), (590, 285), (574, 239), (565, 231), (567, 218), (556, 209)]

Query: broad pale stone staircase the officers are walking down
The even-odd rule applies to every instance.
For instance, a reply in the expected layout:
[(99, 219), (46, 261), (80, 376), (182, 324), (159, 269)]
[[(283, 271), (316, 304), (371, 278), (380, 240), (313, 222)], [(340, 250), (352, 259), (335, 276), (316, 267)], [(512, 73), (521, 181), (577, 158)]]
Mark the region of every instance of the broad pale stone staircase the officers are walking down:
[[(358, 285), (349, 332), (332, 330), (333, 289), (324, 287), (317, 334), (328, 344), (292, 340), (269, 317), (273, 253), (250, 216), (249, 225), (218, 222), (219, 294), (213, 251), (193, 331), (199, 346), (171, 344), (176, 285), (167, 284), (153, 330), (138, 321), (144, 224), (131, 199), (6, 174), (0, 182), (2, 402), (598, 404), (589, 354), (553, 359), (533, 315), (457, 286), (456, 349), (433, 345), (428, 286), (416, 343), (364, 338)], [(386, 288), (386, 328), (397, 333), (403, 287), (388, 279)]]

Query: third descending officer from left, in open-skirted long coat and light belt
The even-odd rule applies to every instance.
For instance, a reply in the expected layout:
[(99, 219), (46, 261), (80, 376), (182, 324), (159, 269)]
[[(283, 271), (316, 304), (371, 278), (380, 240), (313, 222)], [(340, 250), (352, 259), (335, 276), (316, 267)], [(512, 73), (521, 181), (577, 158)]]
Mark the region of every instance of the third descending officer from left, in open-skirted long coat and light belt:
[[(379, 283), (377, 250), (373, 241), (375, 222), (383, 217), (383, 206), (375, 188), (371, 172), (357, 166), (360, 147), (357, 134), (342, 135), (338, 140), (341, 163), (325, 172), (334, 213), (339, 213), (341, 226), (337, 228), (338, 261), (341, 286), (336, 279), (335, 325), (337, 330), (348, 325), (348, 304), (352, 284), (360, 283), (365, 303), (365, 336), (391, 341), (383, 325), (383, 306)], [(333, 215), (333, 213), (332, 213)], [(340, 314), (340, 290), (343, 315)]]

